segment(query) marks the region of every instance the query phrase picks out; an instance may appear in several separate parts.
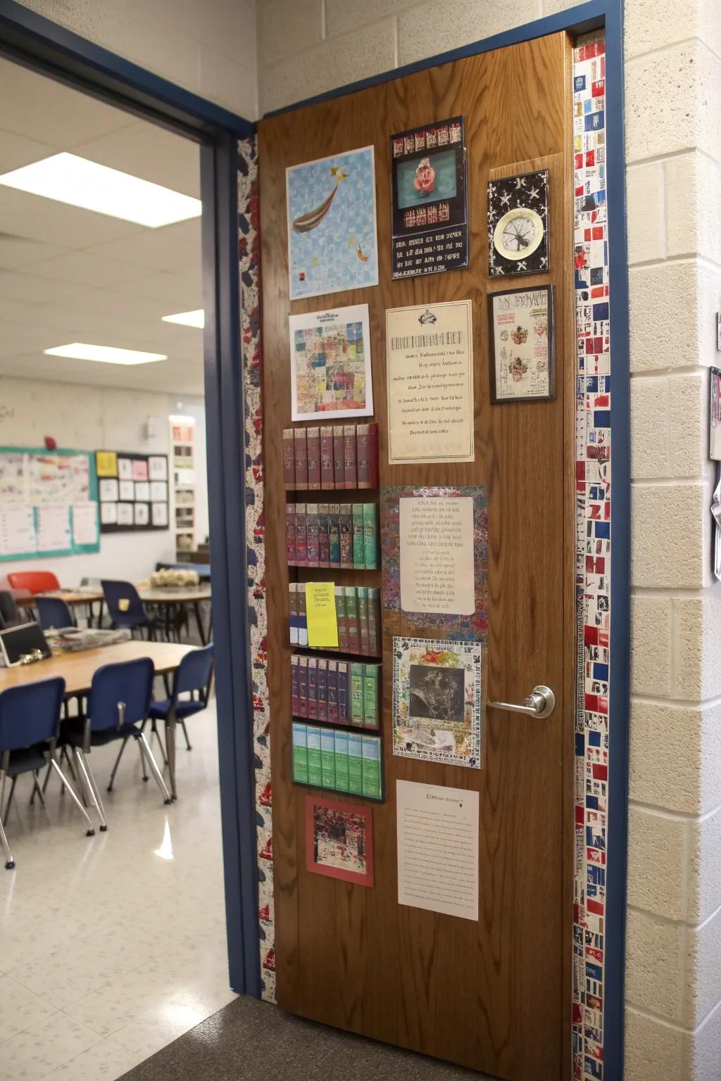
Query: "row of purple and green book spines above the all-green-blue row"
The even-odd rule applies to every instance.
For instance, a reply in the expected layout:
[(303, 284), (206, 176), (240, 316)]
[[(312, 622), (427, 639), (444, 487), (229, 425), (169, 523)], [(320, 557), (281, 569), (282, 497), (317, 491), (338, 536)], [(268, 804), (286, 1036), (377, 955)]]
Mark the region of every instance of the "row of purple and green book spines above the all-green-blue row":
[(291, 657), (294, 717), (358, 729), (377, 729), (380, 665), (332, 657)]

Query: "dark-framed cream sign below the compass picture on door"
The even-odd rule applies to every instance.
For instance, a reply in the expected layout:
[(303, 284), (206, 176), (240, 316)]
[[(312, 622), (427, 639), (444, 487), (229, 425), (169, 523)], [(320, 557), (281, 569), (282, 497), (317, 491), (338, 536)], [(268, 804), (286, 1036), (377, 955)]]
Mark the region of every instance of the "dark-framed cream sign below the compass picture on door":
[(489, 296), (491, 401), (556, 397), (551, 285)]

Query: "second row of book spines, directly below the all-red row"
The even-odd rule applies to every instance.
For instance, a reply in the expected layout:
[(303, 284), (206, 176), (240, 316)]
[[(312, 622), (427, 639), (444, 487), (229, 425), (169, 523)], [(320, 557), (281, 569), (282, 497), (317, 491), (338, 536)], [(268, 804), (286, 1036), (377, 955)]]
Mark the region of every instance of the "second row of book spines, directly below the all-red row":
[(378, 566), (375, 503), (286, 503), (285, 551), (291, 566)]

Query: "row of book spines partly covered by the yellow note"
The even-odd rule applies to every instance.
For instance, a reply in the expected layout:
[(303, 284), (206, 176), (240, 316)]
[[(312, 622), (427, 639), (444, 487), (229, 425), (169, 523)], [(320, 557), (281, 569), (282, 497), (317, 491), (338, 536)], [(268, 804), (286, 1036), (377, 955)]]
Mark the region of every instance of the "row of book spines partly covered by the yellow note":
[[(306, 585), (291, 582), (290, 640), (291, 645), (308, 646)], [(335, 618), (338, 626), (338, 650), (362, 656), (380, 654), (380, 590), (375, 586), (336, 586)], [(333, 649), (333, 646), (318, 646)]]

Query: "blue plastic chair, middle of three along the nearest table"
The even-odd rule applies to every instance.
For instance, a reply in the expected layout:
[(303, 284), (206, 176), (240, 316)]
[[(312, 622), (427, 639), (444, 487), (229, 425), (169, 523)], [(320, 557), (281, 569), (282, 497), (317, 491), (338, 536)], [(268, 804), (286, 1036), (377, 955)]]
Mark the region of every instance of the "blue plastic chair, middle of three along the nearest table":
[[(95, 777), (85, 757), (93, 747), (103, 747), (115, 739), (122, 739), (124, 747), (131, 737), (137, 740), (141, 761), (144, 765), (147, 762), (150, 766), (164, 802), (171, 802), (158, 763), (152, 756), (143, 729), (139, 728), (143, 721), (148, 718), (153, 676), (155, 668), (149, 657), (124, 660), (117, 665), (103, 665), (93, 676), (85, 716), (72, 718), (63, 725), (61, 740), (72, 747), (80, 776), (80, 787), (83, 787), (84, 782), (90, 801), (99, 818), (102, 832), (108, 828), (105, 820), (105, 809)], [(147, 776), (144, 776), (144, 779), (147, 780)]]

